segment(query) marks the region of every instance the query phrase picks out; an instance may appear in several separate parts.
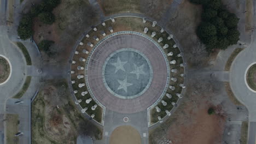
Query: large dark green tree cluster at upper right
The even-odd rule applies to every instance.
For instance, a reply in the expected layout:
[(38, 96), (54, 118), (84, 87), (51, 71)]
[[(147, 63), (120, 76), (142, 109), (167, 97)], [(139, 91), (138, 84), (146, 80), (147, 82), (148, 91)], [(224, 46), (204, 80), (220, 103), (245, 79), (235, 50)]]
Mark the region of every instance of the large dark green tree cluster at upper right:
[(195, 4), (202, 4), (202, 22), (197, 27), (197, 36), (206, 49), (225, 50), (229, 45), (236, 44), (240, 37), (237, 30), (239, 19), (235, 14), (224, 9), (221, 0), (190, 0)]

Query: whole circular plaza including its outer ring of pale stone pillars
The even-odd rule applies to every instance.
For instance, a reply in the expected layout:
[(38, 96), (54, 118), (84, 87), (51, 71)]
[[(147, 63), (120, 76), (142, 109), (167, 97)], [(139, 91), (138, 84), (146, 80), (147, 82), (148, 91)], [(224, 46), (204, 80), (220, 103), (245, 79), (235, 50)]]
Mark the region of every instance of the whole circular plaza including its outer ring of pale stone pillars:
[(127, 115), (147, 111), (148, 125), (161, 123), (185, 88), (186, 64), (178, 43), (146, 18), (111, 18), (92, 26), (70, 63), (75, 104), (102, 125), (106, 110)]

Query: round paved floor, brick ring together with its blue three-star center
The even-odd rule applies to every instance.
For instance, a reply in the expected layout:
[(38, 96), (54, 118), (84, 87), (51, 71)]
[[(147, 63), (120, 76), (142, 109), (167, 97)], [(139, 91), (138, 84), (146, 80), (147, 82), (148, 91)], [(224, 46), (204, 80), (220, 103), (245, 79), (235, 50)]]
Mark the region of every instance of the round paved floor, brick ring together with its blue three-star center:
[(165, 93), (168, 65), (163, 51), (137, 34), (110, 35), (86, 64), (89, 92), (107, 109), (133, 113), (147, 109)]

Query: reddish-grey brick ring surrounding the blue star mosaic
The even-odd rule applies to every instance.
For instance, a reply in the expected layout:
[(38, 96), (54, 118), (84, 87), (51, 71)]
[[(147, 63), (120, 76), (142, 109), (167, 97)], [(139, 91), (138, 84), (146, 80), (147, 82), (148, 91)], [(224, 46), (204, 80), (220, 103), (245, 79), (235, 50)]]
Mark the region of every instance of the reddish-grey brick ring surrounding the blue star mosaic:
[[(123, 48), (142, 52), (150, 61), (153, 80), (148, 90), (134, 99), (120, 99), (112, 95), (103, 84), (102, 67), (107, 57)], [(101, 43), (92, 53), (88, 63), (88, 82), (94, 97), (107, 109), (120, 113), (135, 113), (154, 104), (166, 87), (167, 67), (159, 48), (148, 39), (136, 34), (119, 34)]]

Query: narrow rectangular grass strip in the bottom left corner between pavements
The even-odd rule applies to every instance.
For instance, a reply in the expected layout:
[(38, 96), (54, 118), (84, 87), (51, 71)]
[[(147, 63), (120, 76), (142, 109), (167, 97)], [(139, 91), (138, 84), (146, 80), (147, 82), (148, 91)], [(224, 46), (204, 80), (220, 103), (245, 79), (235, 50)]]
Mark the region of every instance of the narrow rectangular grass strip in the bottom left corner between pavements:
[(19, 131), (19, 115), (6, 114), (7, 144), (19, 143), (19, 137), (14, 136)]

